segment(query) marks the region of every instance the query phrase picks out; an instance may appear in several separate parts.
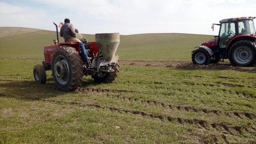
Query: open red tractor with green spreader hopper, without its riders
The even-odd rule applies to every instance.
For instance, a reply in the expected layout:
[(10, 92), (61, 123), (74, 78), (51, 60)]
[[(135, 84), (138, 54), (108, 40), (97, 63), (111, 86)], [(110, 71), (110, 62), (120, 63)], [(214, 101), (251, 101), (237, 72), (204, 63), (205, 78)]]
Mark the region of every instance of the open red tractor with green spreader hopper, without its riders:
[[(96, 42), (84, 43), (91, 60), (82, 60), (79, 42), (58, 43), (44, 46), (44, 61), (42, 65), (34, 66), (36, 82), (46, 83), (46, 71), (52, 71), (52, 77), (62, 91), (74, 91), (82, 86), (82, 77), (92, 75), (95, 82), (111, 83), (118, 76), (119, 56), (116, 54), (120, 43), (119, 33), (95, 34)], [(60, 27), (62, 24), (60, 24)]]

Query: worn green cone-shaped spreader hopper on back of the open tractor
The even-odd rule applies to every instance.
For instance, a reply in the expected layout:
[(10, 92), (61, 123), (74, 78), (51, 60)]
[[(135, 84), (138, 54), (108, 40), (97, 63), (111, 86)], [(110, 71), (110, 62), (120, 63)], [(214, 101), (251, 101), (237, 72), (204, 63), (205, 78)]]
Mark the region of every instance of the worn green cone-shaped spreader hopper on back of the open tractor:
[(95, 34), (96, 43), (106, 62), (111, 62), (120, 43), (119, 33)]

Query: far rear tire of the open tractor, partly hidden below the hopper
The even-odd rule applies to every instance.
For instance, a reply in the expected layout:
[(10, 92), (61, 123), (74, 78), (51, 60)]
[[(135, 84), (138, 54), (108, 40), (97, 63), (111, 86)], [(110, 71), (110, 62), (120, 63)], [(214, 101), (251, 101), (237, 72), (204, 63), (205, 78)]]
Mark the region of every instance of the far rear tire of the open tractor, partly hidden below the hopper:
[(114, 71), (111, 73), (106, 73), (104, 77), (97, 77), (97, 75), (92, 75), (95, 83), (112, 83), (118, 77), (119, 65), (118, 63), (113, 67)]

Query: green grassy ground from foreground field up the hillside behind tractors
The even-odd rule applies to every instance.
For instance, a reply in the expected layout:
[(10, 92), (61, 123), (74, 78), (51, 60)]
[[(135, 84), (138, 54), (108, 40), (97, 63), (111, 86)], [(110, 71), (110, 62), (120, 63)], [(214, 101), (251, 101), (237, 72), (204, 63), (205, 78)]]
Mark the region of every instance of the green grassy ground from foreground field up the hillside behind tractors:
[[(256, 68), (232, 68), (226, 63), (208, 67), (188, 63), (180, 68), (168, 68), (163, 63), (154, 67), (158, 61), (154, 66), (139, 66), (141, 61), (133, 64), (134, 59), (189, 61), (190, 47), (176, 50), (174, 45), (198, 44), (200, 35), (191, 35), (198, 39), (191, 38), (191, 43), (173, 42), (185, 34), (121, 36), (126, 43), (120, 44), (118, 53), (130, 61), (121, 65), (116, 81), (100, 84), (84, 76), (82, 87), (66, 93), (58, 90), (51, 71), (47, 71), (45, 85), (34, 82), (33, 67), (42, 63), (41, 45), (55, 36), (48, 31), (35, 33), (0, 39), (0, 143), (256, 142)], [(154, 41), (147, 40), (153, 36)], [(16, 41), (8, 46), (10, 37)], [(24, 37), (26, 41), (15, 49)], [(162, 47), (157, 46), (159, 43)], [(171, 49), (176, 50), (172, 55)], [(33, 53), (27, 54), (29, 51)], [(152, 51), (157, 55), (147, 58)], [(164, 51), (169, 51), (170, 57)]]

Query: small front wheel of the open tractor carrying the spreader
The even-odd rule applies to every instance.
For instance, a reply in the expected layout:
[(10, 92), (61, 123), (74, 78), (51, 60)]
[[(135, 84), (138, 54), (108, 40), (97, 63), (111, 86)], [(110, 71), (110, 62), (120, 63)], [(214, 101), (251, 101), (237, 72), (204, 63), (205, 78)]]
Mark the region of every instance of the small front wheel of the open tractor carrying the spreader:
[(34, 79), (37, 83), (45, 84), (46, 83), (46, 72), (42, 65), (34, 66)]

